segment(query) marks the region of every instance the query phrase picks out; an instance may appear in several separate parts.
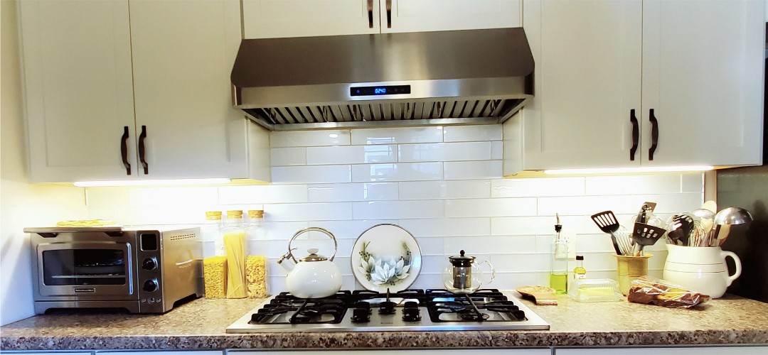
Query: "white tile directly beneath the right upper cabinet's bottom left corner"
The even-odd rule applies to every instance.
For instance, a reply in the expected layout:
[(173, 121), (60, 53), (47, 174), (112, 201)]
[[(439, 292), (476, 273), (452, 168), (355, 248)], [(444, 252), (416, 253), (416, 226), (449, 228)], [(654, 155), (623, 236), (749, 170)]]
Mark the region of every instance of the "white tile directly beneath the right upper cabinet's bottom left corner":
[(584, 178), (494, 179), (492, 197), (584, 195)]

